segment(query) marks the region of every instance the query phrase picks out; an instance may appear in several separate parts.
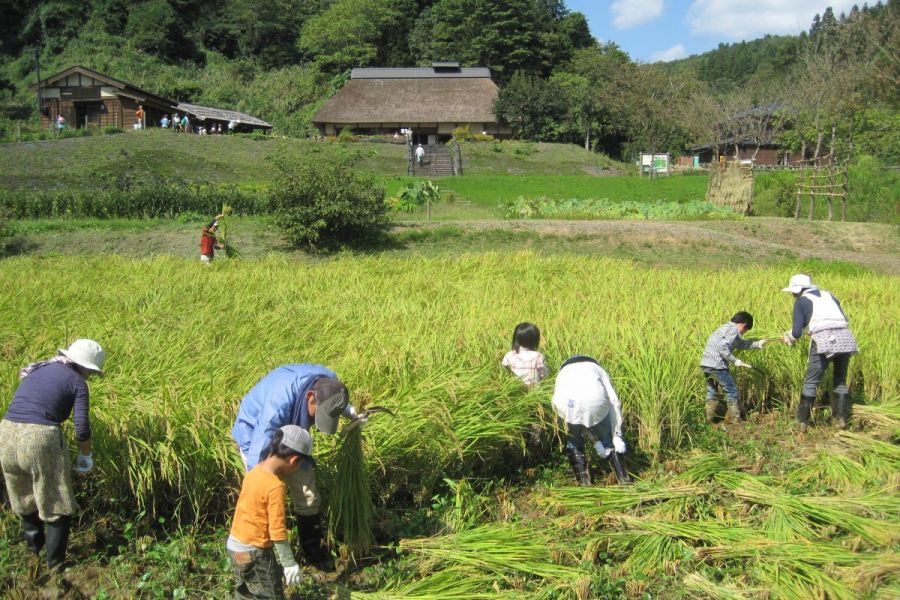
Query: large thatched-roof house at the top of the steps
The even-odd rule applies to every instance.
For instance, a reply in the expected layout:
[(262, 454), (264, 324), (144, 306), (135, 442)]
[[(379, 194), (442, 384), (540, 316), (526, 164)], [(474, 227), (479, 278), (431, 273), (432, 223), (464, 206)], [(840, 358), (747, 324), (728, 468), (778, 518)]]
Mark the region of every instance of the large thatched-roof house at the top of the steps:
[(358, 134), (411, 129), (414, 141), (449, 139), (453, 129), (469, 125), (507, 137), (494, 116), (497, 86), (484, 68), (433, 63), (426, 68), (353, 69), (350, 80), (331, 97), (313, 123), (326, 135), (349, 128)]

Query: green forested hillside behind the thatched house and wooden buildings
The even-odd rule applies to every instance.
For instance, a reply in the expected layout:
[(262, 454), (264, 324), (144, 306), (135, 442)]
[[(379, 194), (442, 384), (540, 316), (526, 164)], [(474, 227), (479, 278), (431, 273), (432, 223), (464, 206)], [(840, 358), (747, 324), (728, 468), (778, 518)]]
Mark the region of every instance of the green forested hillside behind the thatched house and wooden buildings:
[(456, 60), (491, 69), (495, 111), (519, 139), (629, 159), (777, 138), (814, 157), (900, 160), (897, 0), (655, 64), (594, 39), (564, 0), (2, 0), (0, 10), (3, 139), (37, 127), (38, 62), (44, 75), (80, 64), (306, 137), (350, 69)]

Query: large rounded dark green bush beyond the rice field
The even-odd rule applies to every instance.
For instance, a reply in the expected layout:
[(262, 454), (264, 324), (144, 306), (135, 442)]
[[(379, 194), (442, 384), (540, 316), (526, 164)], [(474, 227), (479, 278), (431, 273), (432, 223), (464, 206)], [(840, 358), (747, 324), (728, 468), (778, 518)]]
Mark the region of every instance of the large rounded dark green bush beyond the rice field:
[(343, 162), (277, 164), (269, 204), (288, 241), (312, 252), (380, 241), (388, 225), (384, 189)]

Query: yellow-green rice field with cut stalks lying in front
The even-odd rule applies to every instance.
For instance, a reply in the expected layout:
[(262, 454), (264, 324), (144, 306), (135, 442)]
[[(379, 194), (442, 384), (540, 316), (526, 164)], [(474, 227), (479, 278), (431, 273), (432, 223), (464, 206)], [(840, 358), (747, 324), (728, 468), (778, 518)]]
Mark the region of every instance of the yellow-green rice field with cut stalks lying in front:
[[(396, 413), (344, 444), (316, 437), (332, 538), (358, 560), (385, 542), (398, 557), (382, 577), (329, 584), (338, 594), (897, 597), (900, 336), (885, 321), (900, 314), (897, 278), (812, 273), (859, 339), (850, 379), (864, 429), (823, 435), (778, 469), (760, 467), (767, 448), (713, 453), (705, 438), (697, 362), (706, 337), (737, 310), (755, 317), (750, 337), (780, 337), (792, 298), (779, 290), (791, 274), (532, 253), (208, 268), (176, 258), (7, 259), (0, 409), (23, 364), (76, 337), (100, 341), (107, 375), (91, 382), (97, 468), (86, 510), (219, 527), (241, 474), (229, 431), (243, 394), (278, 365), (328, 365), (355, 405)], [(607, 368), (636, 485), (575, 488), (536, 473), (550, 464), (568, 476), (552, 375), (526, 391), (499, 368), (523, 320), (541, 327), (549, 365), (579, 353)], [(805, 343), (746, 355), (759, 367), (738, 374), (751, 414), (782, 422), (793, 413)], [(501, 485), (512, 479), (515, 495)], [(348, 493), (366, 487), (371, 505), (354, 512)], [(436, 505), (448, 491), (449, 503)], [(440, 531), (384, 539), (385, 515), (429, 505)], [(359, 531), (366, 522), (375, 538)], [(215, 589), (228, 581), (223, 571)]]

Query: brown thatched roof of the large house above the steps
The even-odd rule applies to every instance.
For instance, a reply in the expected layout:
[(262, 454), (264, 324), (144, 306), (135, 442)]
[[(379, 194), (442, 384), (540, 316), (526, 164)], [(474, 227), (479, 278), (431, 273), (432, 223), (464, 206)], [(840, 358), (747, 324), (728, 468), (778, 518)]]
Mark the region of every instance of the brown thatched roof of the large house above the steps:
[(489, 77), (354, 78), (325, 102), (313, 122), (495, 123), (496, 99), (497, 86)]

